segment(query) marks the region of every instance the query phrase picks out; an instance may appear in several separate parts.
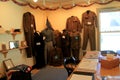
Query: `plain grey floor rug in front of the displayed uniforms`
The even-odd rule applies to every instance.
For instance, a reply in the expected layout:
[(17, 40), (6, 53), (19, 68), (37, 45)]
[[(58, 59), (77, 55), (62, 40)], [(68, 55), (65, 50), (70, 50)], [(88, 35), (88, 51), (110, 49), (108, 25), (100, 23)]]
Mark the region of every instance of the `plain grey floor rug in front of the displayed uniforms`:
[(32, 75), (32, 80), (67, 80), (65, 68), (45, 67)]

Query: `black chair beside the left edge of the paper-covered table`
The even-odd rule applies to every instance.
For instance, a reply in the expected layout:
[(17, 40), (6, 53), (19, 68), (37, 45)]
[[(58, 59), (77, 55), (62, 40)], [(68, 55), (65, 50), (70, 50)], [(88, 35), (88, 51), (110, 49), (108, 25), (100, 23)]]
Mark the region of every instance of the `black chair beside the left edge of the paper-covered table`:
[(74, 57), (66, 57), (64, 58), (64, 67), (68, 72), (68, 76), (73, 72), (77, 63)]

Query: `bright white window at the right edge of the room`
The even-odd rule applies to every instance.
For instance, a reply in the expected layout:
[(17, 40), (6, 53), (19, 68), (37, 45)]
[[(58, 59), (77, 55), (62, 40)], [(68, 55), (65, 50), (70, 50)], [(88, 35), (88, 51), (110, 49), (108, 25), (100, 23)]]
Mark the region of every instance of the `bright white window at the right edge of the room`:
[(120, 50), (120, 8), (99, 10), (100, 50)]

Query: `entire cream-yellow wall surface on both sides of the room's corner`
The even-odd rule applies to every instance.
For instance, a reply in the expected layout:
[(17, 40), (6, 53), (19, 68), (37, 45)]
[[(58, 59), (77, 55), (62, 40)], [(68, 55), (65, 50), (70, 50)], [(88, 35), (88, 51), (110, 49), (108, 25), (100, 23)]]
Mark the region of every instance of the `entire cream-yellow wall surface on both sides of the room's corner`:
[[(90, 7), (75, 7), (70, 10), (58, 9), (56, 11), (42, 11), (39, 9), (31, 9), (28, 6), (18, 6), (11, 1), (0, 2), (0, 25), (2, 25), (5, 30), (11, 30), (12, 28), (20, 28), (22, 30), (22, 33), (16, 35), (16, 40), (22, 41), (24, 40), (22, 16), (27, 11), (30, 11), (35, 16), (38, 31), (41, 31), (46, 27), (45, 23), (47, 17), (55, 30), (62, 31), (65, 28), (66, 19), (68, 17), (74, 15), (77, 16), (81, 21), (81, 15), (86, 10), (92, 10), (97, 14), (97, 9), (111, 6), (119, 6), (119, 2), (112, 2), (107, 5), (95, 4)], [(96, 34), (98, 34), (98, 28), (96, 29)], [(10, 34), (0, 34), (0, 44), (5, 43), (7, 45), (7, 48), (9, 48), (8, 42), (12, 40), (13, 38)], [(96, 40), (98, 50), (98, 35), (96, 35)], [(89, 44), (87, 50), (89, 50)], [(34, 64), (34, 58), (26, 58), (25, 51), (23, 51), (23, 53), (21, 54), (18, 49), (10, 50), (6, 58), (4, 58), (3, 54), (0, 53), (0, 64), (2, 64), (3, 60), (8, 58), (11, 58), (15, 65), (24, 63), (32, 66)], [(3, 70), (2, 65), (0, 67), (0, 71), (1, 70)]]

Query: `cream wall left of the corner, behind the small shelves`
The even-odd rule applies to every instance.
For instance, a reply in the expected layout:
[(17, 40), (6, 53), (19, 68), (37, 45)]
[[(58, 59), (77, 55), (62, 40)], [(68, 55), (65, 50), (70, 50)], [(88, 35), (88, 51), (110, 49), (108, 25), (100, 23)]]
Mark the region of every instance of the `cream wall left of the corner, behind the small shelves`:
[[(39, 26), (37, 29), (42, 29), (43, 24), (45, 23), (45, 11), (40, 10), (33, 10), (29, 7), (18, 6), (14, 4), (12, 1), (1, 2), (0, 1), (0, 25), (5, 30), (11, 30), (12, 28), (19, 28), (21, 29), (22, 33), (16, 35), (15, 40), (23, 41), (24, 40), (24, 32), (22, 27), (22, 16), (25, 12), (30, 11), (35, 15), (36, 25)], [(11, 34), (3, 33), (0, 34), (0, 49), (1, 44), (4, 43), (9, 49), (9, 41), (13, 41), (13, 37)], [(3, 70), (2, 61), (11, 58), (15, 65), (18, 64), (28, 64), (32, 66), (34, 64), (33, 58), (26, 58), (25, 50), (20, 53), (19, 49), (9, 50), (7, 53), (7, 57), (5, 58), (4, 55), (0, 52), (0, 71)]]

